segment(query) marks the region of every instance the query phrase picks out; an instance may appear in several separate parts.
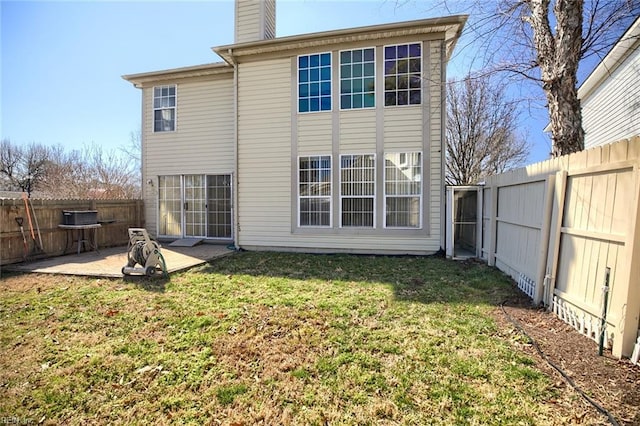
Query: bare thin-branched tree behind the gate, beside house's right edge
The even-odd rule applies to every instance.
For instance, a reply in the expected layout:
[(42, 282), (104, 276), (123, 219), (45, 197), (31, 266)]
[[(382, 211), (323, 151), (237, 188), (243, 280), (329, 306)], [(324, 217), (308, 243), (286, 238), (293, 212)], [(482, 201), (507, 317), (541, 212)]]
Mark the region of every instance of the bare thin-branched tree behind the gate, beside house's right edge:
[(516, 102), (489, 77), (467, 76), (447, 85), (446, 173), (448, 185), (476, 184), (527, 158), (518, 134)]

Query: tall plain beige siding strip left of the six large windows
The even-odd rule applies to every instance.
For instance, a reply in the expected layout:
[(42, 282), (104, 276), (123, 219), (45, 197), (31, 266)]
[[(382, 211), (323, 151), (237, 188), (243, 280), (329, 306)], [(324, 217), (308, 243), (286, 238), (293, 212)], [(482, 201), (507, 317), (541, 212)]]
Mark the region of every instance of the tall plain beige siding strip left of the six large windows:
[(238, 66), (238, 233), (276, 247), (291, 229), (291, 61)]

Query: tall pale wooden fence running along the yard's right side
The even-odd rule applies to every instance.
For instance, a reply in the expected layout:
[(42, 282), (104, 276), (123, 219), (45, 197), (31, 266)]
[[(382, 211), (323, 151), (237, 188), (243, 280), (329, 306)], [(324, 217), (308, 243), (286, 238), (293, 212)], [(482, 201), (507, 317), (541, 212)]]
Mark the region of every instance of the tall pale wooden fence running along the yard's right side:
[(488, 177), (483, 188), (482, 257), (534, 303), (596, 341), (603, 332), (615, 356), (632, 359), (640, 350), (639, 170), (637, 136)]

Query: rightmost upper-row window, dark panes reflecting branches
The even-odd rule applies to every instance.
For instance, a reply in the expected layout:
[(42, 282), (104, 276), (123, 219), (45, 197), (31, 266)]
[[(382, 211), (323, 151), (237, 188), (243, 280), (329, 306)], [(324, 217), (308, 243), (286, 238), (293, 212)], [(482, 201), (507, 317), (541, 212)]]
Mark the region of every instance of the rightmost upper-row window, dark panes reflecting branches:
[(422, 46), (398, 44), (384, 48), (384, 104), (419, 105), (422, 102)]

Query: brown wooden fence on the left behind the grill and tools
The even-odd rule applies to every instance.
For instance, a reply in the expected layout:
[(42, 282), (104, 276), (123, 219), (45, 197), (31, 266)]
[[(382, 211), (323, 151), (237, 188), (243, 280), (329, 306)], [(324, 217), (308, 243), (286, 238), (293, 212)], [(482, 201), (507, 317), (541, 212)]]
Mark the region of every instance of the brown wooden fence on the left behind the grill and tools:
[[(37, 250), (27, 220), (24, 200), (0, 199), (0, 265), (24, 261), (24, 240), (16, 217), (23, 218), (28, 243), (28, 259), (53, 257), (73, 253), (77, 245), (74, 236), (58, 225), (64, 210), (96, 210), (102, 227), (97, 230), (99, 247), (126, 245), (127, 229), (144, 227), (141, 200), (31, 200), (40, 228), (44, 253)], [(34, 220), (35, 222), (35, 220)], [(35, 223), (33, 224), (35, 227)], [(87, 231), (88, 232), (88, 231)], [(38, 238), (36, 234), (36, 238)], [(38, 238), (39, 240), (39, 238)]]

